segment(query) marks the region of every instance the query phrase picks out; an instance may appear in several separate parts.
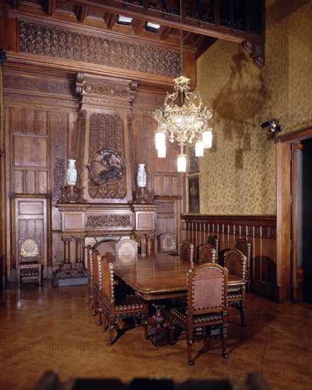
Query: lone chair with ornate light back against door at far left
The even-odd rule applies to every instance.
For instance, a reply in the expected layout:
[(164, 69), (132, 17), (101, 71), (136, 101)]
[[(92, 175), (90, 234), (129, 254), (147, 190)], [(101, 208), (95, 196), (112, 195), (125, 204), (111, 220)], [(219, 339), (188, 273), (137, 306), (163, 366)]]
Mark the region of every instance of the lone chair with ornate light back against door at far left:
[(34, 279), (41, 286), (43, 264), (41, 262), (41, 241), (36, 238), (18, 240), (17, 280), (18, 287), (22, 279)]

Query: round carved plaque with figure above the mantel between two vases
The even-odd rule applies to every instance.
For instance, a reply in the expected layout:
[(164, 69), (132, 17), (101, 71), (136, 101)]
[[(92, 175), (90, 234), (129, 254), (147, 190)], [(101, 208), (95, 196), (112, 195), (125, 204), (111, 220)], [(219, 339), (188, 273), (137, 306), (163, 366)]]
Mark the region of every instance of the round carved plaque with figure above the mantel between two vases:
[(97, 184), (115, 183), (126, 174), (125, 160), (118, 150), (102, 147), (91, 155), (87, 165), (91, 179)]

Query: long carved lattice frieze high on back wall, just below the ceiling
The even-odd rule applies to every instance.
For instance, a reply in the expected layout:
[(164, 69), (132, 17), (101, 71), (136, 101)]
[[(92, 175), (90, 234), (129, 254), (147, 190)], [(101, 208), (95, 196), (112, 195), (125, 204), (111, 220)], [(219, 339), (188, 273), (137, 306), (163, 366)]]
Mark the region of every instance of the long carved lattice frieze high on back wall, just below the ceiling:
[(37, 55), (66, 58), (134, 72), (169, 77), (178, 77), (181, 74), (180, 52), (35, 23), (20, 23), (19, 49)]

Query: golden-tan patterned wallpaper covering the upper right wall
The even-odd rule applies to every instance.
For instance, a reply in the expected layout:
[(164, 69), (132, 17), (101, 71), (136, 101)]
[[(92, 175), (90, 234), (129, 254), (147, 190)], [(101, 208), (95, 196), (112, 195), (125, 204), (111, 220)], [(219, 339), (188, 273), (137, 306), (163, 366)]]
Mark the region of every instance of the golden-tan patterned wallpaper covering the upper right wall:
[(199, 57), (198, 90), (214, 112), (201, 213), (276, 213), (275, 144), (259, 123), (278, 118), (283, 133), (312, 124), (311, 12), (312, 1), (267, 1), (264, 69), (225, 40)]

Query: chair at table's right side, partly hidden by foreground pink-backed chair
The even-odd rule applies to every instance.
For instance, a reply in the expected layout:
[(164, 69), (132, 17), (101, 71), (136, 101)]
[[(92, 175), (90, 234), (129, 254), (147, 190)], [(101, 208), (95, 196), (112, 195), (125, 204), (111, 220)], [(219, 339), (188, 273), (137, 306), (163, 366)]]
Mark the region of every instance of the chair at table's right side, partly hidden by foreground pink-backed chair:
[(240, 278), (239, 283), (228, 283), (228, 305), (238, 308), (242, 326), (245, 326), (245, 284), (247, 259), (240, 250), (230, 249), (224, 252), (224, 267), (229, 274)]

